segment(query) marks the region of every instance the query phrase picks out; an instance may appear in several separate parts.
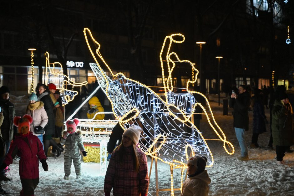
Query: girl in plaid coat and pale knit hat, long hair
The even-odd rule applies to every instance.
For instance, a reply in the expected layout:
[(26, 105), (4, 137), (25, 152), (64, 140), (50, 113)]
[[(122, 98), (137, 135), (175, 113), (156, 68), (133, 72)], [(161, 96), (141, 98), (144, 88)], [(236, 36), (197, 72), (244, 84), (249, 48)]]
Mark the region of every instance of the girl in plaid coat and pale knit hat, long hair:
[(122, 143), (111, 154), (104, 179), (105, 196), (147, 196), (149, 187), (147, 158), (138, 148), (142, 129), (131, 126), (123, 133)]

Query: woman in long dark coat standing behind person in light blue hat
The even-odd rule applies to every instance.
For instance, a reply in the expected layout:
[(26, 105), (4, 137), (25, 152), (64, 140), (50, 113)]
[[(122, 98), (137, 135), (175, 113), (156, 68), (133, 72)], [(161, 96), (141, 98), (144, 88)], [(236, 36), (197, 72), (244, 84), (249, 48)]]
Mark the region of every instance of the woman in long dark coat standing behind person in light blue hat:
[(48, 90), (48, 86), (41, 84), (39, 86), (39, 97), (38, 101), (43, 101), (44, 103), (44, 109), (48, 116), (48, 124), (44, 127), (45, 134), (43, 135), (43, 141), (44, 141), (44, 152), (47, 156), (48, 148), (49, 146), (53, 146), (57, 150), (56, 157), (59, 157), (62, 149), (57, 146), (56, 142), (52, 139), (52, 135), (55, 134), (55, 116), (53, 113), (53, 108), (55, 107), (53, 105), (53, 102), (49, 95), (50, 91)]

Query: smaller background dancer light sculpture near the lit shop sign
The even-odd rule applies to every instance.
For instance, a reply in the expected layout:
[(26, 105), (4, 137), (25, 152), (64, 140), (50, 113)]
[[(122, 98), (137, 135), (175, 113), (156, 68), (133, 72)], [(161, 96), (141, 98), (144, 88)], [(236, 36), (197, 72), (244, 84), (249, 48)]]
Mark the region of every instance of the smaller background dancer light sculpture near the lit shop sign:
[[(63, 74), (63, 68), (61, 63), (59, 62), (54, 62), (50, 63), (49, 61), (49, 53), (45, 53), (45, 58), (46, 58), (46, 67), (45, 67), (45, 75), (46, 75), (46, 80), (45, 84), (48, 85), (49, 83), (52, 83), (53, 78), (58, 78), (59, 79), (59, 84), (55, 84), (57, 86), (57, 89), (59, 89), (60, 92), (60, 97), (62, 100), (62, 106), (65, 106), (68, 104), (68, 102), (73, 101), (74, 97), (78, 95), (78, 91), (75, 90), (68, 90), (64, 85), (72, 85), (74, 86), (83, 86), (87, 85), (88, 82), (84, 81), (82, 83), (76, 83), (73, 80), (69, 79), (67, 75)], [(52, 68), (50, 66), (52, 65)], [(55, 65), (58, 65), (58, 71), (55, 71)], [(49, 70), (49, 72), (48, 72)]]

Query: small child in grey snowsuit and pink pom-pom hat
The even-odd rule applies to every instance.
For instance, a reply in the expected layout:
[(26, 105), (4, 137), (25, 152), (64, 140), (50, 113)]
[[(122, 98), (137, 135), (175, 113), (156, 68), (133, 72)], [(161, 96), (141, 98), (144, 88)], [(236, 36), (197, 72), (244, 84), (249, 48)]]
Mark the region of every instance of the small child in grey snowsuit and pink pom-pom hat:
[(80, 130), (76, 131), (77, 125), (79, 124), (78, 119), (73, 119), (73, 121), (66, 121), (66, 131), (63, 131), (63, 136), (60, 140), (61, 145), (64, 147), (64, 178), (65, 180), (69, 179), (71, 163), (73, 162), (75, 173), (77, 178), (81, 178), (81, 155), (80, 150), (83, 153), (83, 156), (87, 156), (85, 151), (84, 144), (82, 142)]

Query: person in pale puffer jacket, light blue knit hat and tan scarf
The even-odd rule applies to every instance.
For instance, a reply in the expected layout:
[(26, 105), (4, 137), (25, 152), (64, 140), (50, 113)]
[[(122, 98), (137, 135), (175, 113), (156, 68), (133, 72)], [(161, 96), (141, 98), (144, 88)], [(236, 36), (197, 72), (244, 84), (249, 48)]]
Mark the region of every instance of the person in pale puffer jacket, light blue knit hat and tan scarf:
[(29, 104), (26, 114), (32, 116), (33, 118), (30, 131), (33, 132), (33, 135), (37, 136), (43, 144), (43, 135), (36, 134), (35, 129), (43, 129), (48, 123), (48, 116), (44, 109), (44, 103), (42, 101), (38, 101), (38, 97), (35, 93), (32, 93), (28, 100)]

